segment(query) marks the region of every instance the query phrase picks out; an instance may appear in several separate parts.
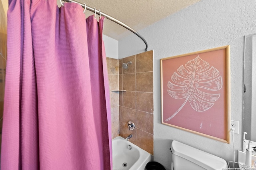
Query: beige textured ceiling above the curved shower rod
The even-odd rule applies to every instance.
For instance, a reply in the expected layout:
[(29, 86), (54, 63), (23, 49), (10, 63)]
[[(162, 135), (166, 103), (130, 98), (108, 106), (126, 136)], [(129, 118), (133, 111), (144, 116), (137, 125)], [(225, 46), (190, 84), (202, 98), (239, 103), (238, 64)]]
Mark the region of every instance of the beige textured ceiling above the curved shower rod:
[[(200, 0), (77, 0), (96, 8), (139, 31)], [(92, 15), (88, 11), (86, 15)], [(132, 34), (110, 20), (104, 21), (104, 35), (119, 40)], [(143, 35), (142, 35), (143, 36)]]

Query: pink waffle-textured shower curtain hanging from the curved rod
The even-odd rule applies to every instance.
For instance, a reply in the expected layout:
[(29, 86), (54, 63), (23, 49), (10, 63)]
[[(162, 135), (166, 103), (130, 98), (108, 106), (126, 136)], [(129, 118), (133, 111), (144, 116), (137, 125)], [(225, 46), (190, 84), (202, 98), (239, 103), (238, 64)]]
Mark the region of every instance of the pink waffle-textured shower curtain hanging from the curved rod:
[(112, 169), (103, 21), (9, 0), (1, 170)]

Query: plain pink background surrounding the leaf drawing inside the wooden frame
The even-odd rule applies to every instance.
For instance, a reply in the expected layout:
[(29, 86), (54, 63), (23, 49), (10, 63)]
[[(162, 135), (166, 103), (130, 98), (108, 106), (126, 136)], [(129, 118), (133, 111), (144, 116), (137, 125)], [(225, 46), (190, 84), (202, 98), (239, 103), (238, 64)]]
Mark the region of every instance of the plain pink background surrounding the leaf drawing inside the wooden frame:
[[(168, 81), (171, 81), (172, 74), (181, 66), (195, 59), (206, 61), (216, 68), (222, 76), (222, 88), (214, 93), (220, 97), (210, 109), (202, 112), (195, 111), (189, 102), (169, 121), (166, 119), (172, 116), (182, 106), (186, 99), (174, 99), (167, 90)], [(184, 57), (171, 58), (162, 61), (162, 116), (163, 123), (175, 125), (220, 139), (226, 139), (226, 49), (187, 55)], [(209, 67), (209, 68), (210, 68)], [(207, 92), (207, 90), (205, 90)]]

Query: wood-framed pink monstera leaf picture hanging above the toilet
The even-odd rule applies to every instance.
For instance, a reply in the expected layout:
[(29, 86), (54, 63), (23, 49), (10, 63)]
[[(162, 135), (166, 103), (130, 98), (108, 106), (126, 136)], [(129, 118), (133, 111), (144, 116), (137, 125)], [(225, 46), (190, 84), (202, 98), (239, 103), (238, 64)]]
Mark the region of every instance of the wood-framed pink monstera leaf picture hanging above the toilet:
[(230, 143), (230, 46), (160, 63), (162, 123)]

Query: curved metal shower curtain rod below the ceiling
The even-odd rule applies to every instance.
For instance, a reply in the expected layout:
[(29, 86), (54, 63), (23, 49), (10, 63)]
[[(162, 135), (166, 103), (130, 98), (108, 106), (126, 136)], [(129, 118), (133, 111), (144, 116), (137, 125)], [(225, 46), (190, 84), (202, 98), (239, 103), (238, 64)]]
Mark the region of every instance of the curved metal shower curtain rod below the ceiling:
[(94, 11), (94, 8), (91, 8), (90, 6), (85, 6), (85, 4), (82, 4), (80, 2), (77, 2), (75, 0), (62, 0), (62, 1), (65, 1), (65, 2), (74, 2), (74, 3), (77, 3), (77, 4), (80, 4), (83, 8), (86, 8), (86, 10), (89, 10), (89, 11), (92, 11), (92, 12), (96, 12), (96, 14), (100, 14), (101, 16), (104, 16), (106, 17), (108, 20), (111, 20), (111, 21), (114, 21), (115, 23), (118, 23), (119, 25), (125, 27), (126, 29), (128, 29), (129, 31), (132, 31), (132, 33), (134, 33), (135, 35), (137, 35), (138, 37), (140, 37), (140, 39), (142, 39), (142, 41), (144, 41), (145, 45), (146, 45), (146, 48), (145, 48), (145, 51), (148, 50), (148, 43), (147, 41), (137, 32), (135, 31), (134, 29), (132, 29), (131, 27), (129, 27), (128, 25), (122, 23), (121, 21), (117, 20), (116, 18), (113, 18), (112, 16), (109, 16), (108, 14), (105, 14), (103, 12), (100, 12), (99, 10), (95, 10)]

